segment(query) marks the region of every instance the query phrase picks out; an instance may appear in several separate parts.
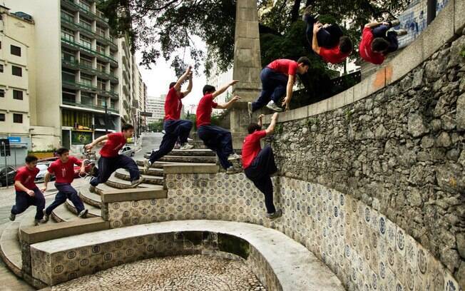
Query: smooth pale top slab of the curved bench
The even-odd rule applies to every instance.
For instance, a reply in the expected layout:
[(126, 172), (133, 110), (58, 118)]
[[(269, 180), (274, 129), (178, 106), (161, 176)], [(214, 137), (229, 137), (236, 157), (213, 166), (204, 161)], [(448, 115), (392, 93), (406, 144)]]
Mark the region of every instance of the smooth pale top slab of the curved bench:
[(188, 231), (223, 233), (246, 240), (265, 257), (279, 280), (282, 290), (344, 290), (341, 282), (329, 270), (329, 267), (303, 245), (278, 230), (250, 223), (221, 220), (150, 223), (76, 235), (71, 240), (69, 238), (48, 240), (31, 245), (31, 249), (51, 254), (143, 235)]

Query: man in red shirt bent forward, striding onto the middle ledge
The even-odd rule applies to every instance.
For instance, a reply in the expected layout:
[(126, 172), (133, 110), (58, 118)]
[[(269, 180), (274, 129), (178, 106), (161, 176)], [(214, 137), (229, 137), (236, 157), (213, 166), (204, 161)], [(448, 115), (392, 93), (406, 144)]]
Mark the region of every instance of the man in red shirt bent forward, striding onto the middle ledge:
[(89, 190), (92, 193), (95, 192), (96, 185), (105, 183), (108, 178), (110, 178), (111, 174), (119, 168), (129, 171), (132, 188), (135, 188), (143, 182), (143, 177), (140, 176), (136, 162), (132, 158), (118, 153), (126, 144), (128, 138), (132, 138), (133, 135), (134, 126), (126, 123), (121, 126), (121, 133), (110, 133), (106, 136), (101, 136), (85, 146), (86, 150), (91, 150), (91, 148), (96, 146), (98, 143), (106, 141), (105, 145), (100, 150), (100, 159), (98, 159), (98, 175), (91, 180), (91, 186), (89, 187)]

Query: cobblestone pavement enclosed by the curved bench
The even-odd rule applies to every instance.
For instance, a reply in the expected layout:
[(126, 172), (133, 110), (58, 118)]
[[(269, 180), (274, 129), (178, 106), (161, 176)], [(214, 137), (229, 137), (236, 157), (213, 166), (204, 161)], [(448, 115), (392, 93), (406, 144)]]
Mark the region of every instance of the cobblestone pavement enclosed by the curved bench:
[(238, 260), (207, 255), (158, 257), (86, 275), (52, 287), (61, 290), (266, 290)]

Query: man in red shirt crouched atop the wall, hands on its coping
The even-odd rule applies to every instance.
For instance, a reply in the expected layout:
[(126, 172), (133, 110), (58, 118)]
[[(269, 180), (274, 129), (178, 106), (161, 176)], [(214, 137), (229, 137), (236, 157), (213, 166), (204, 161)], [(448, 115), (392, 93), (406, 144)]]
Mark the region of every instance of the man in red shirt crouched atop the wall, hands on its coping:
[(297, 73), (307, 73), (310, 67), (310, 60), (302, 56), (297, 61), (286, 58), (272, 61), (262, 69), (260, 80), (262, 81), (262, 92), (255, 102), (248, 102), (247, 108), (249, 117), (252, 118), (252, 112), (257, 111), (263, 106), (267, 106), (272, 111), (282, 111), (278, 106), (282, 96), (286, 95), (282, 106), (288, 108), (292, 98), (292, 87), (295, 83)]

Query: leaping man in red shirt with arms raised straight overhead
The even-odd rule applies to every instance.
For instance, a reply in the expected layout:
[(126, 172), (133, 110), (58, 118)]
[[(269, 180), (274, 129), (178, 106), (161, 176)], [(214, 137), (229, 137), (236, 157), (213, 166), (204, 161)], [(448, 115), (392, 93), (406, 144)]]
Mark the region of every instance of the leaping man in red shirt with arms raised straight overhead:
[[(181, 100), (192, 91), (192, 72), (190, 70), (191, 68), (188, 67), (177, 82), (170, 83), (170, 91), (168, 91), (165, 100), (165, 121), (163, 122), (165, 135), (160, 143), (160, 148), (157, 151), (152, 150), (150, 158), (144, 160), (145, 173), (148, 172), (148, 169), (153, 163), (173, 150), (176, 141), (179, 140), (181, 150), (188, 150), (194, 147), (188, 143), (190, 129), (193, 126), (192, 121), (183, 121), (179, 119), (181, 109), (183, 108)], [(183, 85), (187, 78), (189, 79), (188, 89), (181, 92), (181, 85)]]

